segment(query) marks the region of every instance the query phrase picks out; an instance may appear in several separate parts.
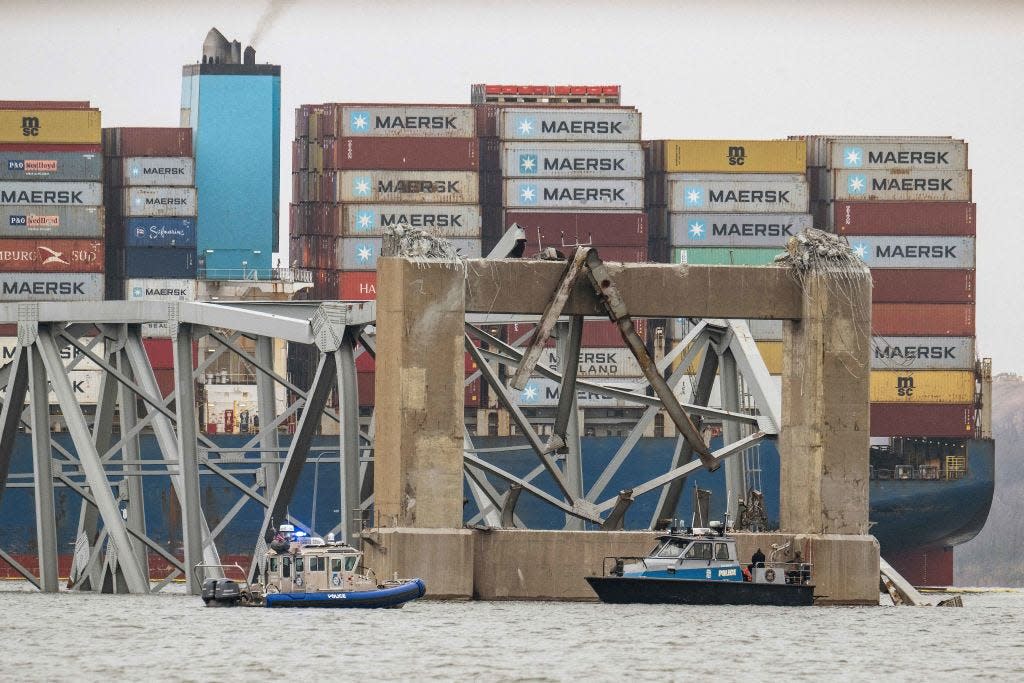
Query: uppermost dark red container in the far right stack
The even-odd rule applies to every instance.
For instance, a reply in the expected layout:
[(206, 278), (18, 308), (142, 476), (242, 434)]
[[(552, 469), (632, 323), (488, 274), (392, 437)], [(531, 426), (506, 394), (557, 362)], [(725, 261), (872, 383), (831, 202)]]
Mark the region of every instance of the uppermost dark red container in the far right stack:
[(836, 202), (840, 234), (973, 237), (977, 205), (969, 202)]

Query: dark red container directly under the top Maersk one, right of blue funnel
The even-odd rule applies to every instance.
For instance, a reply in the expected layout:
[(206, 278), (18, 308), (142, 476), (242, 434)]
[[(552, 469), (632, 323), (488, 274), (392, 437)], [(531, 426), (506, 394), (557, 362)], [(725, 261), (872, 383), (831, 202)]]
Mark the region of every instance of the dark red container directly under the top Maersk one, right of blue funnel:
[(311, 168), (475, 171), (479, 168), (478, 146), (475, 137), (353, 136), (324, 140), (322, 155), (309, 157)]

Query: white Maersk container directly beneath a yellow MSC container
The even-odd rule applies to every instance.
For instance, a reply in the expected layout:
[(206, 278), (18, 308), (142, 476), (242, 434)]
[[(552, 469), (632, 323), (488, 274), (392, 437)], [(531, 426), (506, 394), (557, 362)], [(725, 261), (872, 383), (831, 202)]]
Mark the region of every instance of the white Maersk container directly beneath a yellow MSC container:
[(700, 213), (807, 213), (807, 179), (670, 180), (669, 210)]

